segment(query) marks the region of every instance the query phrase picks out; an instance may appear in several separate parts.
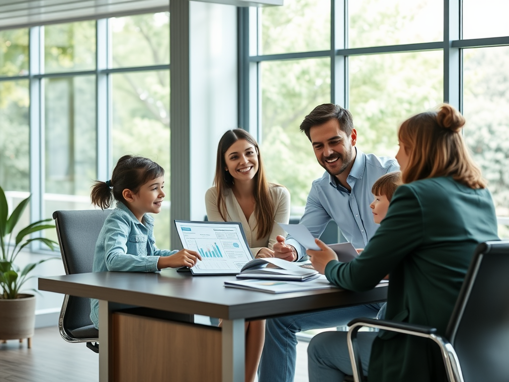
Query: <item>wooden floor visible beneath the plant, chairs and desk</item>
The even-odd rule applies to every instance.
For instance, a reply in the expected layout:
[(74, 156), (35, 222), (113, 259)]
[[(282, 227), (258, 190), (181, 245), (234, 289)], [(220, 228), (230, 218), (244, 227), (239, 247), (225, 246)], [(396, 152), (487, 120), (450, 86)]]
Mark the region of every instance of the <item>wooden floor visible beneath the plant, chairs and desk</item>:
[[(307, 382), (307, 342), (297, 345), (295, 382)], [(37, 329), (32, 348), (26, 340), (0, 344), (2, 382), (98, 382), (99, 354), (84, 343), (68, 343), (54, 327)]]

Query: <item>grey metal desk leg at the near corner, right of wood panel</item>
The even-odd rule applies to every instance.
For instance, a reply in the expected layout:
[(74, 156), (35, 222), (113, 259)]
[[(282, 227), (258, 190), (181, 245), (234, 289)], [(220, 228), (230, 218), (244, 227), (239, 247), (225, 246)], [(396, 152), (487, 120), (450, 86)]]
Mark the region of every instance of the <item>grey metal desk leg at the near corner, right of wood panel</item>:
[(244, 319), (223, 319), (222, 382), (244, 382), (244, 343)]

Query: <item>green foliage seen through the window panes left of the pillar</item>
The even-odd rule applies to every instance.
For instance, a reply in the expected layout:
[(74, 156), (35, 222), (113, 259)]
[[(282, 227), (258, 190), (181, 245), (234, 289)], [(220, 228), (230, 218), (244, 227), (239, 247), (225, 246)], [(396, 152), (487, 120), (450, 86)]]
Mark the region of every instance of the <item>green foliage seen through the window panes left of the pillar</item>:
[[(114, 18), (110, 28), (114, 67), (169, 64), (167, 12)], [(47, 25), (44, 36), (46, 73), (95, 70), (95, 21)], [(28, 30), (1, 31), (0, 76), (27, 72)], [(88, 200), (97, 178), (95, 82), (95, 76), (82, 75), (43, 80), (47, 216), (55, 208), (90, 206), (83, 198)], [(111, 83), (114, 163), (127, 153), (158, 161), (169, 191), (169, 72), (114, 74)], [(28, 111), (29, 81), (0, 81), (0, 181), (9, 191), (30, 189)], [(161, 248), (168, 248), (169, 204), (164, 207), (156, 237)]]

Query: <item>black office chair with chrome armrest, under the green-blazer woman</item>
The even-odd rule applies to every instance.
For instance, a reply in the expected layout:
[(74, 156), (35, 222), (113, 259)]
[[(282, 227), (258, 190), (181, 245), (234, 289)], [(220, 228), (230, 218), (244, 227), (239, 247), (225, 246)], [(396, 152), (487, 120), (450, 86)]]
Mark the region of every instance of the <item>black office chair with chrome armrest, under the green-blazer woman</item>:
[(475, 249), (445, 336), (435, 328), (405, 322), (357, 318), (348, 324), (348, 348), (355, 382), (364, 380), (357, 351), (362, 326), (425, 337), (440, 347), (450, 382), (509, 381), (509, 241), (488, 241)]

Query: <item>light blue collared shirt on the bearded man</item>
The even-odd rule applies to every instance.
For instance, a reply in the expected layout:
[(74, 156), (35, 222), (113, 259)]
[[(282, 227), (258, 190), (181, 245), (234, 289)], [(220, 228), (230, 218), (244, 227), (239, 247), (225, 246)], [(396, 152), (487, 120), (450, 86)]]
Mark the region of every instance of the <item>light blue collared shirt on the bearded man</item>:
[[(384, 174), (399, 171), (400, 167), (395, 159), (356, 150), (357, 155), (347, 178), (351, 192), (325, 172), (320, 179), (313, 181), (300, 224), (306, 226), (314, 237), (320, 237), (333, 220), (347, 241), (355, 248), (364, 248), (379, 227), (373, 221), (370, 207), (374, 198), (371, 193), (373, 183)], [(290, 235), (286, 243), (295, 247), (299, 260), (305, 256), (305, 248)]]

